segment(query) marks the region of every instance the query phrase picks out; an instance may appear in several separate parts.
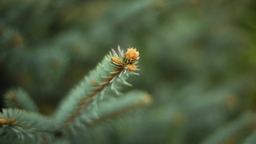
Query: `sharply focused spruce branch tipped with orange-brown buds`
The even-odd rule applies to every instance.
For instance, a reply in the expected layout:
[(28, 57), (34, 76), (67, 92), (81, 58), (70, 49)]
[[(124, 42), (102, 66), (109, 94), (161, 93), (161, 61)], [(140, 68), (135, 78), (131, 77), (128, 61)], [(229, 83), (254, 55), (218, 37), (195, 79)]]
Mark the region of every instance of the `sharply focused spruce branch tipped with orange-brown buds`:
[(112, 52), (109, 52), (109, 55), (105, 56), (60, 104), (54, 116), (64, 129), (76, 133), (80, 123), (91, 121), (83, 114), (94, 112), (99, 99), (103, 99), (111, 91), (120, 95), (118, 91), (120, 83), (131, 86), (125, 79), (129, 75), (137, 74), (134, 71), (137, 70), (139, 52), (136, 48), (128, 48), (126, 52), (121, 50), (120, 46), (117, 49), (118, 52), (112, 49)]

